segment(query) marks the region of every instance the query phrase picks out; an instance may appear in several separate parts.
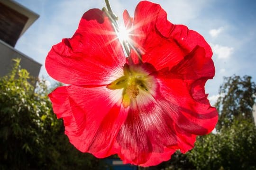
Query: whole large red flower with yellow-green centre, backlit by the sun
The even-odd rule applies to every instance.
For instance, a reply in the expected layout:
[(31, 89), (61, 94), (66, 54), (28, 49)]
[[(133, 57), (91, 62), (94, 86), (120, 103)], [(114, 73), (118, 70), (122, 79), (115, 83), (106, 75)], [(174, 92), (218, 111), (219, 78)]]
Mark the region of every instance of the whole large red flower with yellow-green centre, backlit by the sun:
[(124, 18), (128, 59), (106, 14), (84, 13), (73, 37), (46, 58), (49, 75), (69, 84), (49, 97), (78, 150), (151, 166), (192, 149), (197, 135), (215, 127), (218, 114), (204, 91), (215, 72), (212, 52), (200, 34), (170, 23), (158, 4), (142, 1), (134, 19), (127, 11)]

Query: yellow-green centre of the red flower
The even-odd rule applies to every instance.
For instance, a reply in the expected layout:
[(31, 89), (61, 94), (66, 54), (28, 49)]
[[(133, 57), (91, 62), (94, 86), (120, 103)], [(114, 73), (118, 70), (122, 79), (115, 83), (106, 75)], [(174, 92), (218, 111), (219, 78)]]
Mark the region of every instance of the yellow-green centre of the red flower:
[(150, 75), (142, 65), (129, 66), (125, 64), (123, 69), (124, 76), (111, 82), (107, 85), (107, 88), (111, 90), (123, 89), (122, 104), (127, 108), (139, 95), (150, 95), (151, 92), (155, 91), (155, 77)]

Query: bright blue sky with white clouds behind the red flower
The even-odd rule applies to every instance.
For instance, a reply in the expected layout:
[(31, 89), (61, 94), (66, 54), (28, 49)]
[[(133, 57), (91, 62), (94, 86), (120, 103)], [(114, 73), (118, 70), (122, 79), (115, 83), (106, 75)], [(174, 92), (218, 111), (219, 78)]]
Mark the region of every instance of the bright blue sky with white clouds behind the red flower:
[[(16, 0), (40, 15), (23, 34), (16, 49), (44, 65), (51, 46), (75, 32), (82, 14), (102, 8), (104, 0)], [(121, 18), (124, 9), (133, 16), (139, 0), (110, 0)], [(211, 103), (218, 97), (223, 76), (249, 75), (256, 81), (256, 0), (152, 0), (165, 9), (174, 24), (202, 34), (213, 50), (216, 74), (206, 84)], [(40, 76), (50, 82), (45, 67)]]

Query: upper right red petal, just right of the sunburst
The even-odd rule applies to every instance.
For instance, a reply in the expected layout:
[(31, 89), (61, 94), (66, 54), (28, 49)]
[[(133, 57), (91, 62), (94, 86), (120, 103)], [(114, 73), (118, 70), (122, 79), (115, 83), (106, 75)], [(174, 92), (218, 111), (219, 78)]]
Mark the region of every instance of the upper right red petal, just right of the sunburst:
[[(205, 49), (206, 57), (212, 56), (209, 44), (200, 34), (186, 26), (173, 25), (166, 16), (158, 4), (142, 1), (137, 5), (133, 40), (144, 62), (151, 63), (157, 70), (172, 68), (197, 45)], [(137, 63), (136, 53), (131, 54)]]

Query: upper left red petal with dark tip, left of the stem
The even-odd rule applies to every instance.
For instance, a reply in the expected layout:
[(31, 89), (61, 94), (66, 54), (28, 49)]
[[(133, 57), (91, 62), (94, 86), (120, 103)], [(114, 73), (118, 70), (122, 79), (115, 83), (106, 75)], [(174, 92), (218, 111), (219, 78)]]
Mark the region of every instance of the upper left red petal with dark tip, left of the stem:
[(124, 63), (109, 19), (100, 9), (91, 9), (84, 13), (72, 38), (53, 46), (46, 57), (46, 70), (65, 84), (107, 85), (118, 78), (109, 75)]

